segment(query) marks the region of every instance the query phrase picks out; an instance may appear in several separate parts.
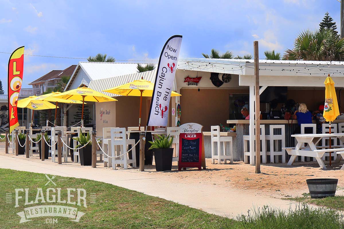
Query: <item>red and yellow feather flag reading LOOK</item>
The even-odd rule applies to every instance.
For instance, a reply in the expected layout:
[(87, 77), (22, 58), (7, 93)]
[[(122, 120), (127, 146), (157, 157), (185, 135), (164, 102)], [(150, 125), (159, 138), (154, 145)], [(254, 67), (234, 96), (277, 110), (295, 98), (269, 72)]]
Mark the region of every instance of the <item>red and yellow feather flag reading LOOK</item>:
[(23, 82), (24, 46), (14, 50), (8, 61), (8, 112), (10, 132), (19, 126), (17, 101)]

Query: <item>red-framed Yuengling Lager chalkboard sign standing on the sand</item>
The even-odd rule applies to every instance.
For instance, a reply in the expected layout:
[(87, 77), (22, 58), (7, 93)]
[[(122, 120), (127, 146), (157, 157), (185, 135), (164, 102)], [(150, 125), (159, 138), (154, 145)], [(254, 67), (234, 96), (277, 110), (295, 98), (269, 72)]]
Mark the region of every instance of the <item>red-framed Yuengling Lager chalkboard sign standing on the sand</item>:
[(197, 123), (180, 126), (178, 170), (186, 167), (196, 167), (201, 170), (202, 128), (203, 126)]

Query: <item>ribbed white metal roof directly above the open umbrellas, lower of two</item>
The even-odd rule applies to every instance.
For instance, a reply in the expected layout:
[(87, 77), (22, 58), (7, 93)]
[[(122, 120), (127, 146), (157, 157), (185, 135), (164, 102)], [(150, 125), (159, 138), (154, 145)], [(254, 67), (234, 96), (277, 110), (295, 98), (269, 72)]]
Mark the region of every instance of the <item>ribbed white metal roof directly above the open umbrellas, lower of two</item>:
[[(93, 89), (98, 92), (102, 92), (105, 89), (117, 87), (119, 85), (125, 84), (132, 82), (134, 80), (139, 80), (141, 77), (143, 79), (151, 81), (154, 83), (155, 81), (155, 76), (157, 75), (157, 70), (153, 71), (145, 71), (145, 72), (136, 72), (132, 74), (127, 74), (123, 76), (115, 76), (115, 77), (108, 77), (108, 78), (103, 78), (103, 79), (97, 79), (97, 80), (92, 80), (89, 84), (89, 88)], [(102, 92), (108, 96), (114, 97), (114, 96), (119, 96), (115, 95), (109, 92)]]

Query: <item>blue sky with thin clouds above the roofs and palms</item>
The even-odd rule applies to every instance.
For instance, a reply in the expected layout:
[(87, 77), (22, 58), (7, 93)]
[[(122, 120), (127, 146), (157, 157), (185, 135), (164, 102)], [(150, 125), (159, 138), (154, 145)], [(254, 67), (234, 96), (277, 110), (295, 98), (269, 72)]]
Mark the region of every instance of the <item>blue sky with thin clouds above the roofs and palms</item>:
[[(259, 55), (292, 48), (296, 35), (315, 30), (326, 11), (340, 24), (336, 0), (213, 1), (14, 1), (0, 0), (0, 52), (25, 45), (25, 53), (87, 58), (106, 53), (117, 60), (155, 60), (171, 35), (183, 35), (180, 57), (202, 57), (212, 48)], [(0, 80), (7, 92), (10, 54), (0, 53)], [(76, 59), (24, 57), (23, 88)]]

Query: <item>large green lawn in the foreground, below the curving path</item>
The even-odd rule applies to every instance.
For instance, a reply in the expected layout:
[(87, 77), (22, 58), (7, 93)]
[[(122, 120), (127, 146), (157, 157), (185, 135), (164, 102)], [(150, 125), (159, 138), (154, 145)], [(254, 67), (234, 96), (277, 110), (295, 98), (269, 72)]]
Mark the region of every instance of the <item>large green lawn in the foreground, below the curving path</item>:
[[(51, 177), (52, 175), (50, 175)], [(57, 186), (50, 183), (44, 186), (47, 179), (44, 174), (0, 169), (0, 228), (218, 228), (218, 229), (343, 229), (342, 216), (334, 210), (315, 209), (298, 206), (288, 213), (264, 207), (249, 216), (228, 219), (202, 210), (187, 207), (158, 197), (148, 196), (107, 183), (86, 179), (65, 178), (56, 176), (53, 179)], [(37, 188), (48, 187), (84, 188), (87, 195), (96, 193), (96, 203), (87, 198), (87, 207), (58, 204), (38, 203), (23, 206), (25, 196), (14, 207), (13, 203), (5, 202), (6, 193), (13, 193), (15, 188), (29, 188), (29, 201), (35, 199)], [(158, 187), (152, 187), (158, 188)], [(65, 192), (62, 192), (65, 198)], [(230, 193), (228, 193), (230, 195)], [(14, 198), (15, 195), (13, 195)], [(72, 199), (75, 201), (75, 199)], [(240, 201), (240, 200), (238, 200)], [(38, 217), (30, 222), (19, 224), (18, 212), (25, 207), (38, 205), (64, 205), (77, 207), (86, 213), (79, 222), (69, 221), (63, 217)], [(57, 224), (45, 224), (46, 218), (57, 219)]]

